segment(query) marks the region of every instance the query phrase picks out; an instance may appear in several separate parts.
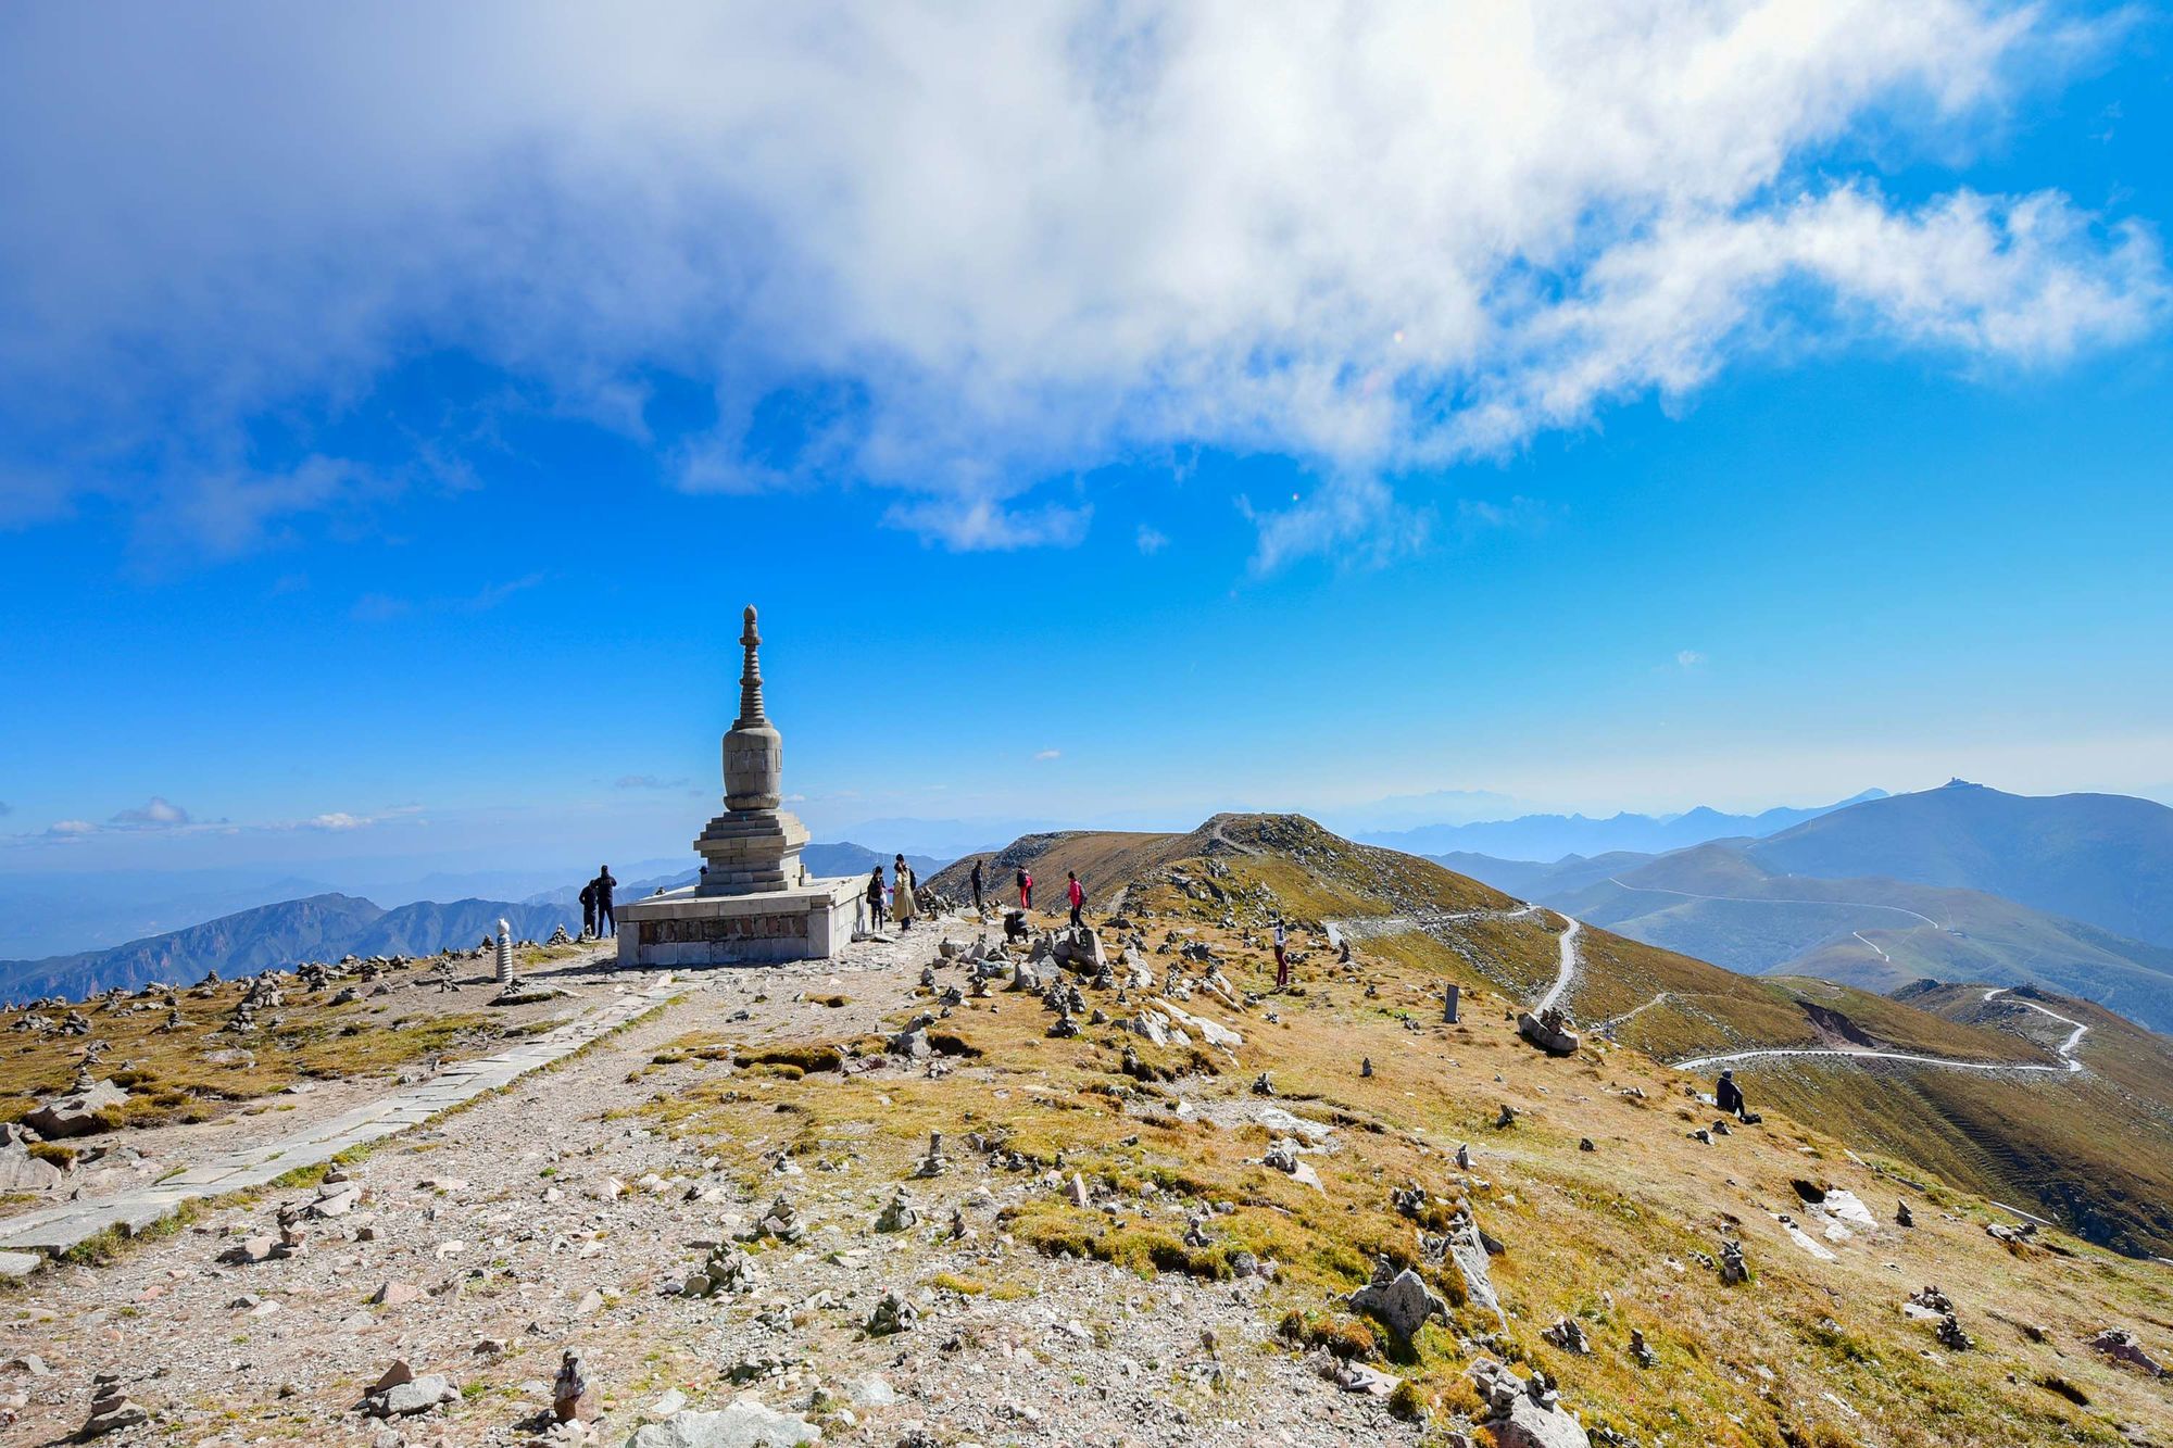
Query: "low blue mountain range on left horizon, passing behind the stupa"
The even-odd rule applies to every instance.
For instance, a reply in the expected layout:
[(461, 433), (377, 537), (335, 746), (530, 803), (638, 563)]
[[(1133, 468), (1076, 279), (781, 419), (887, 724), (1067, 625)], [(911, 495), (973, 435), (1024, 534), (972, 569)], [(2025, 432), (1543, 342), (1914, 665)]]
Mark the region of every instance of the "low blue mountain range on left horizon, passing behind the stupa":
[[(891, 857), (856, 844), (811, 844), (800, 859), (811, 874), (867, 874)], [(919, 878), (932, 878), (945, 861), (908, 854)], [(621, 883), (619, 900), (639, 900), (658, 889), (691, 885), (693, 870)], [(382, 909), (361, 896), (317, 891), (300, 900), (259, 904), (183, 931), (165, 931), (102, 950), (52, 954), (37, 961), (0, 961), (0, 1000), (70, 996), (80, 1000), (115, 985), (135, 989), (152, 981), (198, 981), (206, 970), (224, 976), (254, 974), (298, 961), (337, 961), (343, 954), (437, 954), (445, 946), (467, 948), (513, 924), (519, 939), (545, 939), (561, 924), (580, 931), (580, 885), (563, 885), (528, 900), (417, 900)]]

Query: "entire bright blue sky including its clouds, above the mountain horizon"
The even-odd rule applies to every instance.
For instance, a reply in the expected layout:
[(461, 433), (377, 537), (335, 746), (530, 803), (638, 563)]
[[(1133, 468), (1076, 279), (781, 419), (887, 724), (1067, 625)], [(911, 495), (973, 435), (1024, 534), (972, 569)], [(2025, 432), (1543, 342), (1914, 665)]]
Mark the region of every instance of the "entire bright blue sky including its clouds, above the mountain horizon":
[(2158, 11), (102, 9), (0, 870), (2173, 791)]

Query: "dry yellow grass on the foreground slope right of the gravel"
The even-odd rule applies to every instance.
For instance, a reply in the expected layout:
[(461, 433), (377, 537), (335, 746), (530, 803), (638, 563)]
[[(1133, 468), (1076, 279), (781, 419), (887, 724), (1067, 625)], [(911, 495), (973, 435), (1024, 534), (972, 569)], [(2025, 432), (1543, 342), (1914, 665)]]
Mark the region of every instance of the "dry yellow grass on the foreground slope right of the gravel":
[[(1232, 870), (1243, 865), (1232, 861)], [(1156, 909), (1145, 896), (1139, 902)], [(1152, 913), (1143, 928), (1158, 939), (1165, 924), (1171, 918)], [(1265, 983), (1265, 952), (1236, 931), (1197, 918), (1184, 924), (1228, 957), (1241, 987)], [(1901, 1185), (1780, 1113), (1762, 1131), (1693, 1141), (1688, 1126), (1710, 1122), (1710, 1109), (1686, 1111), (1682, 1076), (1634, 1050), (1549, 1061), (1523, 1048), (1495, 1009), (1443, 1026), (1441, 983), (1478, 983), (1467, 961), (1428, 937), (1367, 946), (1349, 972), (1321, 961), (1315, 954), (1302, 968), (1302, 991), (1241, 1018), (1193, 1002), (1245, 1033), (1234, 1059), (1158, 1052), (1113, 1026), (1047, 1039), (1047, 1015), (1013, 994), (952, 1011), (943, 1031), (978, 1054), (956, 1057), (943, 1078), (761, 1074), (876, 1046), (815, 1033), (784, 1052), (739, 1052), (750, 1068), (732, 1074), (687, 1059), (641, 1111), (739, 1161), (756, 1194), (774, 1189), (763, 1154), (778, 1148), (824, 1168), (826, 1185), (882, 1191), (910, 1174), (930, 1131), (943, 1131), (954, 1154), (967, 1154), (965, 1137), (978, 1133), (1032, 1163), (1019, 1181), (1080, 1172), (1100, 1189), (1102, 1200), (1080, 1209), (1037, 1187), (1002, 1218), (1017, 1244), (1141, 1276), (1223, 1278), (1236, 1252), (1273, 1259), (1280, 1276), (1267, 1311), (1289, 1350), (1323, 1346), (1382, 1363), (1410, 1381), (1406, 1409), (1436, 1415), (1469, 1407), (1458, 1335), (1497, 1328), (1465, 1305), (1454, 1272), (1419, 1257), (1415, 1224), (1389, 1204), (1389, 1189), (1404, 1181), (1469, 1200), (1482, 1226), (1508, 1241), (1493, 1263), (1512, 1313), (1499, 1350), (1558, 1374), (1588, 1426), (1643, 1441), (1767, 1448), (2117, 1444), (2119, 1422), (2173, 1426), (2153, 1385), (2080, 1346), (2112, 1320), (2169, 1322), (2173, 1300), (2158, 1268), (2064, 1239), (2067, 1254), (2010, 1254), (1982, 1231), (1999, 1213), (1975, 1198)], [(1269, 1022), (1269, 1009), (1280, 1020)], [(1128, 1044), (1176, 1085), (1123, 1074)], [(1371, 1078), (1358, 1070), (1365, 1057)], [(1273, 1076), (1276, 1104), (1336, 1124), (1334, 1150), (1308, 1157), (1321, 1191), (1263, 1168), (1269, 1133), (1221, 1115), (1256, 1102), (1247, 1087), (1260, 1070)], [(1643, 1100), (1621, 1087), (1641, 1089)], [(1199, 1111), (1180, 1118), (1180, 1098)], [(1519, 1122), (1493, 1131), (1504, 1102)], [(1578, 1150), (1580, 1137), (1597, 1150)], [(1478, 1152), (1469, 1181), (1449, 1161), (1458, 1141)], [(1882, 1228), (1875, 1241), (1843, 1244), (1836, 1263), (1814, 1261), (1773, 1218), (1801, 1215), (1793, 1178), (1849, 1187), (1882, 1213), (1908, 1196), (1919, 1226)], [(971, 1181), (969, 1168), (926, 1194), (941, 1200)], [(1210, 1244), (1186, 1246), (1186, 1215), (1213, 1202), (1230, 1209), (1208, 1218)], [(1714, 1252), (1723, 1233), (1745, 1241), (1751, 1285), (1721, 1287), (1699, 1265), (1697, 1254)], [(1376, 1257), (1417, 1263), (1449, 1298), (1456, 1331), (1430, 1326), (1402, 1346), (1343, 1309)], [(1004, 1276), (1017, 1270), (1000, 1261), (989, 1274), (1023, 1291)], [(971, 1291), (980, 1281), (932, 1285)], [(1938, 1350), (1927, 1328), (1901, 1320), (1901, 1298), (1925, 1281), (1958, 1298), (1977, 1352)], [(1562, 1315), (1584, 1322), (1593, 1357), (1541, 1341), (1538, 1331)], [(2012, 1322), (2043, 1326), (2047, 1339), (2032, 1341)], [(1656, 1368), (1628, 1359), (1630, 1328), (1660, 1355)], [(2073, 1385), (2088, 1407), (2043, 1387), (2049, 1378)]]

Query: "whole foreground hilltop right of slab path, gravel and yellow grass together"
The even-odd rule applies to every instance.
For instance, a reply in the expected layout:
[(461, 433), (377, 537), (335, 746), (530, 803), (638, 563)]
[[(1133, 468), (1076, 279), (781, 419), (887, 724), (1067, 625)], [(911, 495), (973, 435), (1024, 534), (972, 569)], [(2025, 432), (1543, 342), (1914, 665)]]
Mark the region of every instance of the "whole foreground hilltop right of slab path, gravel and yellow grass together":
[(1532, 1050), (1569, 952), (1519, 911), (1349, 961), (1306, 928), (1276, 994), (1291, 885), (1249, 865), (1136, 887), (1102, 944), (950, 915), (691, 974), (322, 1178), (52, 1263), (0, 1296), (9, 1441), (2173, 1441), (2160, 1268)]

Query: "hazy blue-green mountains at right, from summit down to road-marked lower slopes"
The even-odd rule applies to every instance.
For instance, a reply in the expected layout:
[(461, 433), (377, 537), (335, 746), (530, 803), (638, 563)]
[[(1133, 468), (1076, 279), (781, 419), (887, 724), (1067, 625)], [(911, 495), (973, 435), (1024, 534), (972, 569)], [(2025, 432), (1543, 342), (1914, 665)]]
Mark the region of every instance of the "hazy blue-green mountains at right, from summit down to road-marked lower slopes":
[(1956, 781), (1769, 839), (1441, 863), (1632, 939), (1869, 989), (2036, 981), (2173, 1031), (2173, 809)]

